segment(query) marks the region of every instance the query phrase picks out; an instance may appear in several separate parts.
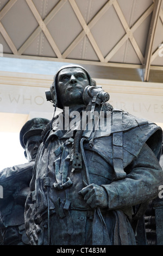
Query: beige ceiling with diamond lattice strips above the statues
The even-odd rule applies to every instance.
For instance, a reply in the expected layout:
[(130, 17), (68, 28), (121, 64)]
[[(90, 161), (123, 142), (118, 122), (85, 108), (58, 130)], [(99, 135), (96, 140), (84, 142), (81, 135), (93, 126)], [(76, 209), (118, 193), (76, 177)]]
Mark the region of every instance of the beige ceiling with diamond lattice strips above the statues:
[(148, 81), (163, 71), (163, 1), (2, 0), (0, 43), (7, 57), (137, 65)]

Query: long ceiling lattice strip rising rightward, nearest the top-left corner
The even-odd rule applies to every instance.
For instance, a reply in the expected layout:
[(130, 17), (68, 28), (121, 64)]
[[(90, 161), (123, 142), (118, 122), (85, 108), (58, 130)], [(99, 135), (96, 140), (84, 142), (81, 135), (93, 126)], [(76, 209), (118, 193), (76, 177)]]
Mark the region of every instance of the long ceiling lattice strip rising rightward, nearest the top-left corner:
[[(58, 13), (58, 11), (62, 8), (62, 6), (67, 2), (67, 0), (60, 0), (57, 5), (52, 9), (52, 11), (46, 16), (46, 18), (43, 20), (45, 25), (47, 25), (53, 17)], [(30, 44), (35, 40), (35, 38), (41, 33), (42, 29), (40, 26), (38, 26), (35, 31), (29, 36), (29, 38), (24, 42), (24, 44), (18, 49), (18, 54), (22, 54)]]

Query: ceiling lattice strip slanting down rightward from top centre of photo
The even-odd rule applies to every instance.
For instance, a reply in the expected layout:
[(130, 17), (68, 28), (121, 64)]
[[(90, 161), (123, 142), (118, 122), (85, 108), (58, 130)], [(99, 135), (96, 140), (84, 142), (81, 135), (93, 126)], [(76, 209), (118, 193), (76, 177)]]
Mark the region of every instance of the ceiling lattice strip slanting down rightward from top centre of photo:
[(102, 52), (99, 50), (99, 47), (95, 41), (95, 39), (93, 38), (93, 35), (90, 31), (90, 28), (86, 25), (86, 22), (82, 16), (82, 14), (80, 13), (80, 10), (76, 4), (76, 2), (74, 0), (69, 0), (70, 4), (71, 4), (71, 7), (72, 9), (74, 10), (74, 13), (76, 14), (79, 22), (80, 22), (80, 25), (82, 25), (83, 29), (84, 29), (84, 32), (85, 34), (87, 35), (87, 38), (90, 40), (91, 42), (91, 45), (93, 46), (93, 49), (95, 50), (99, 60), (101, 62), (104, 62), (104, 57), (103, 57), (103, 54)]

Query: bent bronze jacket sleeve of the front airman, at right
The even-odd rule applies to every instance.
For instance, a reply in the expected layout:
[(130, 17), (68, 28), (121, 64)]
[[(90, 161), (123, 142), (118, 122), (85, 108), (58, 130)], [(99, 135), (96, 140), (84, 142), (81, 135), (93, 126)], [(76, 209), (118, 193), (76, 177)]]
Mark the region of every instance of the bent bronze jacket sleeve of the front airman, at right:
[(109, 210), (127, 208), (158, 196), (159, 186), (163, 185), (163, 171), (156, 156), (147, 144), (140, 154), (127, 167), (125, 179), (102, 185), (108, 194)]

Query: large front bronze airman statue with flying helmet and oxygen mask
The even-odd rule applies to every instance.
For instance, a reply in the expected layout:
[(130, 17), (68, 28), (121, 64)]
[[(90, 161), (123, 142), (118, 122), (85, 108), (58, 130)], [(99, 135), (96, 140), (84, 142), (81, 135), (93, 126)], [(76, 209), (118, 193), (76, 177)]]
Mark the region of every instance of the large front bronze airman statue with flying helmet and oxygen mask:
[[(63, 112), (35, 161), (25, 210), (30, 244), (136, 245), (137, 222), (163, 182), (161, 128), (114, 109), (81, 66), (61, 68), (46, 95)], [(99, 129), (95, 115), (88, 129), (89, 114), (102, 111)]]

